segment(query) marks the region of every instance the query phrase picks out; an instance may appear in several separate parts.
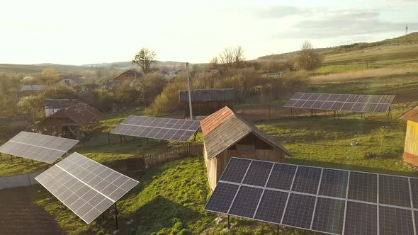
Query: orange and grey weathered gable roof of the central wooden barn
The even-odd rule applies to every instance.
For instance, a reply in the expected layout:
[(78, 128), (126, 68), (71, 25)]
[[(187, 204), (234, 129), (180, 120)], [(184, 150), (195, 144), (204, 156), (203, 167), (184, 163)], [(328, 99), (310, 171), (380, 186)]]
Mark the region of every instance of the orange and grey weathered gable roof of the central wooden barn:
[(287, 149), (278, 144), (269, 134), (262, 132), (247, 120), (238, 117), (227, 107), (222, 108), (222, 112), (219, 110), (200, 121), (200, 126), (202, 131), (205, 129), (205, 148), (209, 159), (213, 159), (251, 133), (272, 147), (278, 147), (287, 155), (292, 156)]

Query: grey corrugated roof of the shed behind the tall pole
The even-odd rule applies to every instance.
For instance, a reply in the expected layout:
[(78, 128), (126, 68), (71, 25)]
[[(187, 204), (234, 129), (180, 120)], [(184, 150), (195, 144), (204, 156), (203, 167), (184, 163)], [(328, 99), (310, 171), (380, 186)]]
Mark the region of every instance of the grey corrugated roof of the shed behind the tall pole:
[[(180, 102), (188, 102), (188, 91), (179, 91)], [(192, 102), (234, 101), (234, 88), (191, 90)]]

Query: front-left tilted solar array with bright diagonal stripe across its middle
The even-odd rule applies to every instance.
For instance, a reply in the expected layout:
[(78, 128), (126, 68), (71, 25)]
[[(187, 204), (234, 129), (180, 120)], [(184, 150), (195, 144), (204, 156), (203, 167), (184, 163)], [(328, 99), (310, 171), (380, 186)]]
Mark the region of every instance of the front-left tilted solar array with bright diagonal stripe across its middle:
[(35, 179), (87, 224), (138, 183), (77, 153)]

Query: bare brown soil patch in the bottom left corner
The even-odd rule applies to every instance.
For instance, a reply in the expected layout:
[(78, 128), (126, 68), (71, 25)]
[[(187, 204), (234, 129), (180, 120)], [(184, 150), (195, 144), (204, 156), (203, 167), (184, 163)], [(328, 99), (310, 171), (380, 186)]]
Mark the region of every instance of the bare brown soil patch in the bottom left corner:
[(0, 234), (64, 234), (54, 217), (34, 205), (34, 188), (0, 190)]

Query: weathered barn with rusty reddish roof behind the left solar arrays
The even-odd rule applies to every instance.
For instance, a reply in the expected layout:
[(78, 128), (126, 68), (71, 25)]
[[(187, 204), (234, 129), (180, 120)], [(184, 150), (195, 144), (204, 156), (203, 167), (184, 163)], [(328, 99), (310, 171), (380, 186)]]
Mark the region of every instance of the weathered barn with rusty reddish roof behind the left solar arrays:
[(80, 127), (90, 125), (101, 120), (101, 113), (86, 103), (76, 103), (57, 110), (38, 127), (43, 127), (43, 132), (57, 133), (62, 137), (79, 139)]

